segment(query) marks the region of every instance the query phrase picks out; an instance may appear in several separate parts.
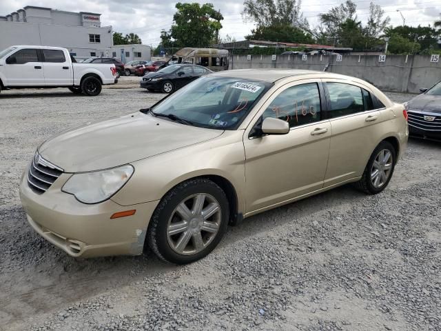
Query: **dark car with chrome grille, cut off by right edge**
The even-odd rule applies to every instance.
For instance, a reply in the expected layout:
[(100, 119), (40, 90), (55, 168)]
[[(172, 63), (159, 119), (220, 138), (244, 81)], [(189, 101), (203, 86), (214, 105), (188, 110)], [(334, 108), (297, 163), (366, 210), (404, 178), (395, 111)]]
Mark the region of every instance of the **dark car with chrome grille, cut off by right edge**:
[(441, 81), (405, 103), (409, 116), (409, 134), (441, 141)]

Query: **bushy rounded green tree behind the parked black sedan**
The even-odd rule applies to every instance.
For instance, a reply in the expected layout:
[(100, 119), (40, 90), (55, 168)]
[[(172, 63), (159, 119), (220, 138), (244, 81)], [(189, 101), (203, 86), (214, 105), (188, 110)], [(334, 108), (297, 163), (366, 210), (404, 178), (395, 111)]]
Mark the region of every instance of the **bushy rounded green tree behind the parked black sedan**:
[[(218, 42), (218, 34), (223, 20), (222, 14), (214, 9), (212, 3), (176, 3), (176, 13), (164, 41), (174, 47), (206, 47)], [(161, 37), (162, 40), (162, 37)]]

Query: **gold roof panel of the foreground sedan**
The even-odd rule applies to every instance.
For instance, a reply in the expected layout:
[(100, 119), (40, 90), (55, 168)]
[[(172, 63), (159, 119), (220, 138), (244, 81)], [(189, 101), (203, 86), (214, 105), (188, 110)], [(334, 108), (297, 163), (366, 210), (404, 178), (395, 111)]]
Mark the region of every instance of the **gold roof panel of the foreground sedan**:
[[(300, 69), (237, 69), (237, 70), (225, 70), (218, 71), (212, 74), (219, 77), (236, 77), (240, 79), (256, 79), (260, 81), (267, 81), (269, 83), (274, 83), (280, 79), (287, 77), (301, 77), (309, 76), (314, 77), (324, 77), (324, 78), (340, 78), (340, 79), (351, 79), (353, 77), (345, 76), (342, 74), (334, 74), (332, 72), (324, 72), (317, 70), (300, 70)], [(357, 79), (358, 80), (358, 79)]]

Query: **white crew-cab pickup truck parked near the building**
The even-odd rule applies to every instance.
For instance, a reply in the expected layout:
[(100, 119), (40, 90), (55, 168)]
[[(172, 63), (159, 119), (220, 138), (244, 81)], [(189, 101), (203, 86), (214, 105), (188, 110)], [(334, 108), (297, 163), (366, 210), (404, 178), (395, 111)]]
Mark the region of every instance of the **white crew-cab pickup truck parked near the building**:
[(10, 88), (68, 88), (98, 95), (117, 83), (111, 63), (76, 63), (68, 50), (46, 46), (11, 46), (0, 52), (0, 91)]

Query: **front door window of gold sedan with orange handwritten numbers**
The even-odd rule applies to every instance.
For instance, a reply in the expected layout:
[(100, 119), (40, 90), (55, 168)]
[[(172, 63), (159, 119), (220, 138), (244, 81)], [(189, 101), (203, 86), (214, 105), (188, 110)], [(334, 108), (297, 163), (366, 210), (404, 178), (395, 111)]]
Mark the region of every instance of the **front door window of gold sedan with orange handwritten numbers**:
[(317, 83), (307, 83), (280, 92), (263, 112), (263, 119), (274, 117), (289, 123), (289, 127), (320, 121), (320, 92)]

